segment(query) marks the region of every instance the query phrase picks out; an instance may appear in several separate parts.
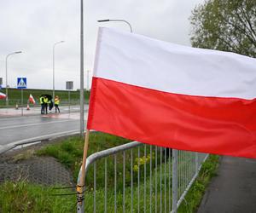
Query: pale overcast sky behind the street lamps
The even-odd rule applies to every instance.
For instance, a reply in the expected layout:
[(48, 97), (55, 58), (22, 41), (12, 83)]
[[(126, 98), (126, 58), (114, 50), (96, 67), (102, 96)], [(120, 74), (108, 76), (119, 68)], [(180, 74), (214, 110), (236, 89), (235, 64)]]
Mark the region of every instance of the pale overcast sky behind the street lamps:
[[(84, 88), (87, 70), (92, 75), (99, 26), (129, 31), (121, 22), (98, 23), (101, 19), (124, 19), (133, 32), (171, 43), (190, 46), (189, 16), (203, 0), (84, 0)], [(53, 45), (55, 46), (55, 89), (66, 81), (79, 88), (80, 0), (0, 1), (0, 78), (16, 87), (18, 77), (27, 78), (27, 88), (52, 89)]]

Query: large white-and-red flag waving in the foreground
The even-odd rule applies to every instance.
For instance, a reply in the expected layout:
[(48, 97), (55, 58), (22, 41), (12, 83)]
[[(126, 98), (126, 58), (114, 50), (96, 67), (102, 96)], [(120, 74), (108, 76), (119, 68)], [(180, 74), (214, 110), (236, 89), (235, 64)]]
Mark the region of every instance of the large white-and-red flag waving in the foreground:
[(87, 129), (256, 158), (256, 59), (100, 28)]

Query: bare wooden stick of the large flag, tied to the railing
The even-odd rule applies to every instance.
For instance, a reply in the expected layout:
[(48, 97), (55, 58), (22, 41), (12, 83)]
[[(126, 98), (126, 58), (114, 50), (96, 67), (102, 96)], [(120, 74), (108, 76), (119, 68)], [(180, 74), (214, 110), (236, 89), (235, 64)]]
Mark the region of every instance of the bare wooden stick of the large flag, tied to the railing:
[[(86, 165), (86, 158), (87, 158), (87, 151), (88, 151), (88, 145), (89, 145), (89, 135), (90, 130), (86, 130), (85, 133), (85, 139), (84, 139), (84, 155), (83, 155), (83, 162), (82, 162), (82, 170), (81, 170), (81, 177), (79, 179), (79, 185), (77, 186), (77, 192), (79, 193), (80, 197), (83, 197), (83, 189), (84, 189), (84, 181), (85, 181), (85, 165)], [(82, 198), (80, 198), (81, 202), (83, 201)]]

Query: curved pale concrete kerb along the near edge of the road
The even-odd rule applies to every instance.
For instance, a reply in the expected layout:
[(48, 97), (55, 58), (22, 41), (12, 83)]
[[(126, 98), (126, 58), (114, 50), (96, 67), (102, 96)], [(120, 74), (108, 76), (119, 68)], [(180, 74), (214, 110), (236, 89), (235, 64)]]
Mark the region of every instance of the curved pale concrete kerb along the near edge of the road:
[(71, 130), (71, 131), (65, 131), (65, 132), (60, 132), (60, 133), (55, 133), (55, 134), (50, 134), (50, 135), (43, 135), (43, 136), (38, 136), (38, 137), (33, 137), (30, 139), (25, 139), (21, 141), (15, 141), (13, 143), (10, 143), (6, 146), (0, 146), (0, 154), (6, 153), (11, 149), (14, 149), (15, 147), (19, 147), (22, 145), (28, 145), (31, 143), (35, 143), (38, 141), (46, 141), (46, 140), (54, 140), (56, 138), (60, 138), (63, 136), (67, 135), (77, 135), (79, 134), (79, 130)]

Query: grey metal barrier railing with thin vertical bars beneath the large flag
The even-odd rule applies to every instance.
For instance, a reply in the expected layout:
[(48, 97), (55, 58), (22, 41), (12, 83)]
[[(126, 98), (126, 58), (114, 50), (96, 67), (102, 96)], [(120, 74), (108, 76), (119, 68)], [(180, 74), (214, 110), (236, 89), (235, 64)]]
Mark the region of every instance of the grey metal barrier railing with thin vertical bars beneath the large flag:
[(77, 212), (177, 212), (207, 156), (137, 141), (93, 153)]

